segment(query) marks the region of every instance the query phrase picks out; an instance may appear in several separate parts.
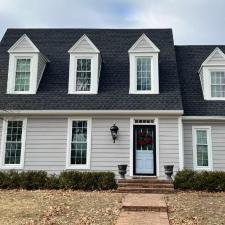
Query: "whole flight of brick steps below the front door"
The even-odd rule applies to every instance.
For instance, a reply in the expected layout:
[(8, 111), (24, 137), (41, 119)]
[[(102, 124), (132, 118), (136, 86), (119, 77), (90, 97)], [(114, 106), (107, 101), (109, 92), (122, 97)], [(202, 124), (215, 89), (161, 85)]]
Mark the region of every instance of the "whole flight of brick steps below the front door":
[(169, 194), (174, 192), (174, 187), (170, 181), (155, 177), (119, 179), (117, 192)]

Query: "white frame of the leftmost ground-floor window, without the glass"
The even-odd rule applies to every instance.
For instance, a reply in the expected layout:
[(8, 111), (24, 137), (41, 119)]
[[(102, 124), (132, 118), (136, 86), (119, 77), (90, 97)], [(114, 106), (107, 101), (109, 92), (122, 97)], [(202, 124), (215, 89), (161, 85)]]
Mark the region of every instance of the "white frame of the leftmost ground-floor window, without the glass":
[[(21, 155), (20, 164), (5, 164), (5, 148), (6, 148), (6, 137), (7, 137), (7, 127), (8, 121), (23, 121), (22, 127), (22, 137), (21, 137)], [(27, 130), (27, 118), (17, 117), (17, 118), (3, 118), (2, 125), (2, 143), (1, 143), (1, 157), (0, 157), (0, 168), (1, 169), (23, 169), (24, 168), (24, 155), (26, 149), (26, 130)]]

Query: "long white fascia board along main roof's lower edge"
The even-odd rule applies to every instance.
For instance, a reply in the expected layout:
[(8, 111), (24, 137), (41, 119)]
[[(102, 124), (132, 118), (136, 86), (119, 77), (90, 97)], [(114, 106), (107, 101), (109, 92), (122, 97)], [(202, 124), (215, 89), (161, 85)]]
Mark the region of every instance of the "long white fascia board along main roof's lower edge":
[(0, 110), (1, 115), (166, 115), (181, 116), (183, 110)]

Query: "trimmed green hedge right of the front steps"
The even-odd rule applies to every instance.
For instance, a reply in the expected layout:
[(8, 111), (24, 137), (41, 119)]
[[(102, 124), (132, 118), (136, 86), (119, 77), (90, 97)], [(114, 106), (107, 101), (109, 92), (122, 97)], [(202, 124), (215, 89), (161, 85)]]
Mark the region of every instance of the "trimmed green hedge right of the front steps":
[(225, 172), (223, 171), (178, 171), (174, 179), (177, 189), (225, 191)]

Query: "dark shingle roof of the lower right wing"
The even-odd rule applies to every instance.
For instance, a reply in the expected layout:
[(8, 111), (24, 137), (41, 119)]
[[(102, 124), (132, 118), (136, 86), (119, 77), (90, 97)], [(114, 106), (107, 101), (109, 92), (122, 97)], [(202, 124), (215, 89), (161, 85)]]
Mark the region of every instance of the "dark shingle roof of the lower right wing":
[(198, 70), (210, 53), (225, 46), (176, 46), (184, 115), (225, 116), (225, 101), (205, 101)]

